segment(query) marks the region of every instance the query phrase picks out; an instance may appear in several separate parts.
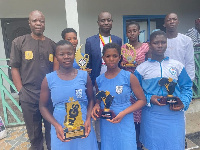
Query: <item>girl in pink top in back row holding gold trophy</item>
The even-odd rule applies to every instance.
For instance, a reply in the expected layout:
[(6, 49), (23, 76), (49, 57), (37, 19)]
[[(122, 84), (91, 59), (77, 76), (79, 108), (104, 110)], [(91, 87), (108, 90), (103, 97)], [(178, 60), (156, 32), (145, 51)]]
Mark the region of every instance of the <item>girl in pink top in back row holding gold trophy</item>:
[[(134, 73), (137, 65), (141, 64), (148, 57), (150, 57), (149, 45), (148, 43), (140, 43), (138, 40), (140, 34), (140, 25), (135, 22), (129, 22), (126, 25), (126, 36), (128, 37), (129, 43), (122, 45), (122, 62), (121, 67), (124, 70)], [(130, 61), (129, 61), (130, 60)], [(136, 99), (131, 96), (131, 103), (135, 103)], [(141, 112), (142, 110), (134, 111), (134, 123), (136, 130), (136, 140), (138, 150), (142, 148), (142, 145), (139, 141), (140, 135), (140, 121), (141, 121)]]

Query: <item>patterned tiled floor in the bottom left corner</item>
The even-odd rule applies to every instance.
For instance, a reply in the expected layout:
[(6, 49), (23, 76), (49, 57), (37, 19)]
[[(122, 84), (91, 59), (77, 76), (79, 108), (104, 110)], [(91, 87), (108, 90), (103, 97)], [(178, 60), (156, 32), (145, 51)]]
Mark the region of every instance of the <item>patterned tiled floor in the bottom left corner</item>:
[(0, 150), (27, 150), (30, 147), (25, 126), (7, 128), (7, 137), (0, 140)]

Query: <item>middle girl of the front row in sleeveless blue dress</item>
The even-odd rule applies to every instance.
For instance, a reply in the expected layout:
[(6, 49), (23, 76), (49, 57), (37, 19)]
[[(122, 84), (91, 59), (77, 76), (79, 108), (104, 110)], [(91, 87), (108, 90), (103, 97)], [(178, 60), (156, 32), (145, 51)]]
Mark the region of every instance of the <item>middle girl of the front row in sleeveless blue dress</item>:
[[(109, 91), (114, 97), (110, 109), (116, 117), (100, 120), (101, 150), (137, 149), (133, 111), (146, 104), (145, 96), (137, 78), (129, 71), (118, 67), (121, 48), (118, 44), (108, 43), (103, 48), (103, 59), (107, 71), (97, 77), (97, 91)], [(138, 101), (131, 104), (130, 95), (134, 92)], [(97, 100), (92, 117), (104, 108), (103, 101)]]

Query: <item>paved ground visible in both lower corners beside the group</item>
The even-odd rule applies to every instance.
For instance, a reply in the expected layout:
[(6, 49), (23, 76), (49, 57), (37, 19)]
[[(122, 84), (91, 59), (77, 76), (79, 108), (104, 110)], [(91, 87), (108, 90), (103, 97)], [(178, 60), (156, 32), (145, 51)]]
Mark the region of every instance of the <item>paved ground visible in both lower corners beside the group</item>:
[[(200, 132), (200, 100), (192, 101), (186, 112), (186, 135)], [(7, 128), (7, 137), (0, 140), (0, 150), (27, 150), (30, 147), (25, 126)], [(187, 138), (187, 150), (200, 150), (200, 145)], [(46, 149), (46, 148), (45, 148)]]

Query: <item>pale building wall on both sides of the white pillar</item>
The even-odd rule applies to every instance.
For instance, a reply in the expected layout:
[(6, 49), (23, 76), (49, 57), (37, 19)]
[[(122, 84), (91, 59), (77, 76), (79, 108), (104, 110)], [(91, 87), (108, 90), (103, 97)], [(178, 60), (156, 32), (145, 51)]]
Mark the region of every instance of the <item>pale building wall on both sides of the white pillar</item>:
[[(79, 43), (85, 44), (87, 37), (98, 33), (97, 16), (101, 11), (111, 12), (114, 20), (111, 33), (123, 37), (123, 15), (165, 15), (175, 12), (179, 15), (179, 31), (185, 33), (200, 16), (199, 5), (199, 0), (77, 0)], [(36, 9), (42, 11), (46, 18), (44, 34), (55, 42), (59, 41), (61, 31), (67, 27), (65, 0), (0, 0), (0, 18), (26, 18)], [(5, 58), (1, 31), (0, 54), (0, 58)], [(4, 64), (0, 62), (0, 65)]]

